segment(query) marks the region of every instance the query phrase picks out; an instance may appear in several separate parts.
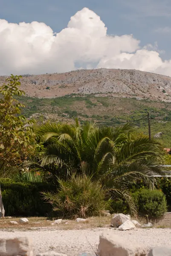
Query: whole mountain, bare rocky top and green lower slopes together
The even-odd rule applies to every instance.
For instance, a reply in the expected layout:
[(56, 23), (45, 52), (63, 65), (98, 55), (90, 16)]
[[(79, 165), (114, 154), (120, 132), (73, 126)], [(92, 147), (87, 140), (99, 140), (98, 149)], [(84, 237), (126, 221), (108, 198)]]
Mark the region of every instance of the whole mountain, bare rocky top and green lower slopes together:
[[(0, 76), (3, 83), (6, 76)], [(75, 70), (68, 73), (24, 75), (18, 99), (26, 106), (22, 112), (38, 122), (47, 120), (99, 125), (133, 122), (139, 132), (151, 134), (165, 148), (171, 148), (171, 78), (138, 70)], [(143, 118), (143, 119), (142, 119)], [(139, 120), (141, 119), (141, 120)], [(161, 119), (161, 120), (158, 120)]]

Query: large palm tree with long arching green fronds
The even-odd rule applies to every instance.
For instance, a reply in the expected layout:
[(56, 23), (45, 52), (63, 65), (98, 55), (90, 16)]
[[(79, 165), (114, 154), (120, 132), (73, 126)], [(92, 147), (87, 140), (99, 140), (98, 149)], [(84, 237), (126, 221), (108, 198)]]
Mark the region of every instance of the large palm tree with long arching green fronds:
[(93, 175), (114, 197), (125, 198), (133, 214), (136, 209), (127, 186), (141, 179), (151, 187), (153, 174), (164, 175), (161, 145), (147, 137), (134, 138), (135, 131), (129, 124), (112, 128), (92, 122), (81, 126), (78, 120), (74, 125), (47, 123), (38, 128), (37, 134), (44, 150), (39, 159), (27, 162), (27, 167), (60, 178), (71, 172)]

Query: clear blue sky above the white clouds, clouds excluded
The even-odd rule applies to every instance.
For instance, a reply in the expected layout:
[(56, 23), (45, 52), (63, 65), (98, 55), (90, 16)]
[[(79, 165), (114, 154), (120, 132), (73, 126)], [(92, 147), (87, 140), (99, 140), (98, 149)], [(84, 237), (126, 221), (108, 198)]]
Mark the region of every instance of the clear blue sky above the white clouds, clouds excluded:
[(157, 41), (171, 57), (171, 0), (0, 0), (0, 18), (12, 23), (44, 22), (54, 32), (83, 7), (101, 17), (108, 34), (133, 34), (141, 45)]

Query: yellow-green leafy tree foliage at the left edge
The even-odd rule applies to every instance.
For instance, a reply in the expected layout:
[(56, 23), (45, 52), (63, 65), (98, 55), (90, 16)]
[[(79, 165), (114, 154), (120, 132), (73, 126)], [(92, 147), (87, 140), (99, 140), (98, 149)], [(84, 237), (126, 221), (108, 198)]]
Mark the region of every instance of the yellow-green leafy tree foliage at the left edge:
[(20, 164), (35, 150), (33, 120), (20, 115), (25, 106), (14, 99), (24, 95), (19, 89), (21, 76), (11, 75), (0, 87), (0, 175), (6, 176), (12, 166)]

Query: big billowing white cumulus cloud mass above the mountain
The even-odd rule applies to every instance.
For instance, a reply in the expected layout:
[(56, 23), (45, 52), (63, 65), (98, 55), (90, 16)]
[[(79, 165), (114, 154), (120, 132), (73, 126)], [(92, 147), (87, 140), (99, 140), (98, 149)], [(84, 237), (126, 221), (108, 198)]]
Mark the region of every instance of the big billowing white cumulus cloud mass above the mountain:
[(84, 8), (67, 28), (0, 20), (0, 75), (67, 72), (79, 68), (124, 68), (171, 76), (171, 60), (163, 61), (157, 47), (140, 47), (133, 35), (107, 35), (100, 17)]

